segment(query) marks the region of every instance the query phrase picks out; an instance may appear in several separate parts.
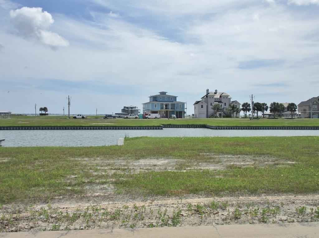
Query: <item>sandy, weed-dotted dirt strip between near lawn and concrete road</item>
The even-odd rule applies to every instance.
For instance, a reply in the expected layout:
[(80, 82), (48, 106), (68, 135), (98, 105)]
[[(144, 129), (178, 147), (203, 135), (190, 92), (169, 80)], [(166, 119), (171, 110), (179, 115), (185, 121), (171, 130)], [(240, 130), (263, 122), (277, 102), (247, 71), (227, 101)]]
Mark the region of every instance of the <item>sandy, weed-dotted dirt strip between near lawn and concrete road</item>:
[[(97, 193), (98, 194), (98, 193)], [(3, 206), (2, 231), (139, 228), (319, 221), (319, 195), (62, 198)]]

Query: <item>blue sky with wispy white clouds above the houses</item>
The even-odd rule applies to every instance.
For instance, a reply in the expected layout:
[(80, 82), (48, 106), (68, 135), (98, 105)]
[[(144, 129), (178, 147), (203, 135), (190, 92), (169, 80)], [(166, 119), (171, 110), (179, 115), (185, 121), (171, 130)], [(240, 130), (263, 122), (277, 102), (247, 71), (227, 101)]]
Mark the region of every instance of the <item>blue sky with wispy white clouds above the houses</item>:
[(0, 0), (0, 110), (120, 112), (167, 91), (233, 100), (319, 95), (318, 0)]

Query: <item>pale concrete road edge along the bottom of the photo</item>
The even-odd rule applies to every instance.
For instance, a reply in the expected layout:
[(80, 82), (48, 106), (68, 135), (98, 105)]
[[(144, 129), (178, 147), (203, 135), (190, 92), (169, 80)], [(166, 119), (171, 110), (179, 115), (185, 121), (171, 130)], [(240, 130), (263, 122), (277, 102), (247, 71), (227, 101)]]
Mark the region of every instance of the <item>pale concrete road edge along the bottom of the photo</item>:
[(0, 233), (5, 238), (319, 237), (319, 222)]

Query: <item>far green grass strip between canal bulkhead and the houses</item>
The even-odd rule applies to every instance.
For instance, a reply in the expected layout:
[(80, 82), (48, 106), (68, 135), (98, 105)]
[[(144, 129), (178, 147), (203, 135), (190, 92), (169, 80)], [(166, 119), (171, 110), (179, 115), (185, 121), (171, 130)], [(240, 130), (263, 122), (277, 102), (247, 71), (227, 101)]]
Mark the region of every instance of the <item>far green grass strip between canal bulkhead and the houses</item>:
[(160, 126), (160, 125), (211, 125), (211, 126), (319, 126), (319, 119), (61, 119), (42, 116), (28, 119), (3, 119), (0, 126)]

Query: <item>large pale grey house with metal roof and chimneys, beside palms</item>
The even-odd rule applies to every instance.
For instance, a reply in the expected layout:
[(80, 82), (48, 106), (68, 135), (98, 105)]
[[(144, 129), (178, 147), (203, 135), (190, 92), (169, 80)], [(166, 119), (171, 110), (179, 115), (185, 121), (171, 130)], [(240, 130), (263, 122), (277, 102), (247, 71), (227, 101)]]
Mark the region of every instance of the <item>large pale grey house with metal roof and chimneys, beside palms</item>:
[[(200, 101), (196, 101), (194, 105), (194, 114), (195, 118), (210, 118), (210, 117), (221, 117), (223, 115), (230, 115), (227, 112), (227, 108), (231, 105), (235, 105), (237, 108), (241, 108), (241, 103), (237, 100), (231, 101), (230, 95), (226, 92), (218, 92), (217, 89), (215, 92), (210, 92), (206, 89), (206, 94), (201, 98)], [(222, 112), (215, 112), (213, 110), (214, 105), (219, 105), (222, 108)], [(234, 117), (240, 117), (240, 113)]]

